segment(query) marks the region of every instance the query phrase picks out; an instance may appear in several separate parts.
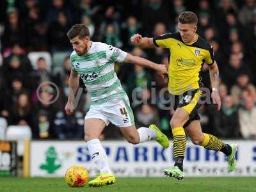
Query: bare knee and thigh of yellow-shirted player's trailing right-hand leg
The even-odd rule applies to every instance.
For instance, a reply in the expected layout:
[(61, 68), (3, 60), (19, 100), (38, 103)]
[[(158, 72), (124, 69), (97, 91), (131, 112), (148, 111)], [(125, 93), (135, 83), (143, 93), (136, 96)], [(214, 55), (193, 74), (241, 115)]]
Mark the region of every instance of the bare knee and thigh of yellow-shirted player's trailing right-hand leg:
[(194, 144), (200, 145), (204, 141), (204, 133), (202, 132), (199, 120), (193, 120), (190, 122), (190, 124), (185, 127), (185, 131)]

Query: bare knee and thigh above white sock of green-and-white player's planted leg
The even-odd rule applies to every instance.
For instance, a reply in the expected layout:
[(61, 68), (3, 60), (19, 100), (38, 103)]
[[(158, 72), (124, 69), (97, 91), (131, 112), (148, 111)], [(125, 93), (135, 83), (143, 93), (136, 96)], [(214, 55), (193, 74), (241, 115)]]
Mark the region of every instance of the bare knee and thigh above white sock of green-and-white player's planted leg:
[(88, 118), (84, 122), (84, 140), (98, 139), (106, 123), (99, 118)]

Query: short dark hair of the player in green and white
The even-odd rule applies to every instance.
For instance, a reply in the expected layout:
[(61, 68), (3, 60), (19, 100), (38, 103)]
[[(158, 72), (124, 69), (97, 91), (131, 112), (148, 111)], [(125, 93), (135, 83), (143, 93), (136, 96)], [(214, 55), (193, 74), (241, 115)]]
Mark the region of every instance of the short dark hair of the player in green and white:
[(89, 29), (84, 24), (75, 24), (69, 29), (67, 36), (69, 39), (75, 38), (78, 36), (79, 38), (84, 38), (86, 36), (90, 36)]

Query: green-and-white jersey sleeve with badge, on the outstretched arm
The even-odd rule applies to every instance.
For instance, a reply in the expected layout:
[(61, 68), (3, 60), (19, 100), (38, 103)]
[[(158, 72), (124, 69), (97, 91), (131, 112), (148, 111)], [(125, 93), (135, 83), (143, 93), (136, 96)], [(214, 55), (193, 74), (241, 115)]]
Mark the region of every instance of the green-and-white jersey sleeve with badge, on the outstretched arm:
[(122, 51), (121, 49), (118, 49), (116, 47), (113, 47), (112, 45), (108, 45), (106, 50), (106, 56), (109, 61), (123, 62), (127, 56), (127, 52)]

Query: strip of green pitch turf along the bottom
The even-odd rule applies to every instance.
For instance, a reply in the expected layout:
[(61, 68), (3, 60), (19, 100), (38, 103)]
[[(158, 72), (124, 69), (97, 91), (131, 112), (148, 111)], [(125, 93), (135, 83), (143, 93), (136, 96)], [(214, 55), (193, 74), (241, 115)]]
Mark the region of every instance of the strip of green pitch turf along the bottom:
[(102, 188), (70, 188), (64, 179), (56, 178), (0, 178), (0, 191), (127, 191), (127, 192), (235, 192), (256, 191), (256, 177), (185, 178), (117, 178), (113, 186)]

